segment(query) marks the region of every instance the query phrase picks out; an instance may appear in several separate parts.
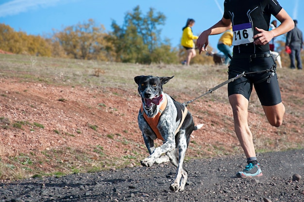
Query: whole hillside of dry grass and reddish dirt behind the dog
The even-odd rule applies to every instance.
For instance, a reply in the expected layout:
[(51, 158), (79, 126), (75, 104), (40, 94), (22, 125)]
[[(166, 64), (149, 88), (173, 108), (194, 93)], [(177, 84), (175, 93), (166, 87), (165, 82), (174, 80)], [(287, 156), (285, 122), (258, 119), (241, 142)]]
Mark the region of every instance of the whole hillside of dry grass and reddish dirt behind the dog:
[[(137, 124), (135, 76), (175, 75), (164, 91), (180, 102), (227, 79), (223, 66), (145, 66), (8, 54), (0, 55), (0, 61), (2, 180), (138, 166), (148, 152)], [(270, 126), (255, 92), (250, 101), (257, 153), (304, 148), (304, 72), (277, 72), (286, 106), (283, 125)], [(227, 86), (188, 109), (195, 123), (204, 126), (193, 132), (187, 159), (243, 153)]]

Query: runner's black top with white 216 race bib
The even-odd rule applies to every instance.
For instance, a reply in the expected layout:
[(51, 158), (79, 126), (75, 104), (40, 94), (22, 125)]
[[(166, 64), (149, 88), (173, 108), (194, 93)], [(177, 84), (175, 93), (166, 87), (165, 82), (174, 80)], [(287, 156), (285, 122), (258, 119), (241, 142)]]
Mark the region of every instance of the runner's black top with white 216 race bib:
[(268, 31), (271, 15), (276, 16), (282, 7), (277, 0), (225, 0), (225, 19), (233, 26), (233, 53), (253, 54), (269, 51), (269, 44), (254, 45), (255, 27)]

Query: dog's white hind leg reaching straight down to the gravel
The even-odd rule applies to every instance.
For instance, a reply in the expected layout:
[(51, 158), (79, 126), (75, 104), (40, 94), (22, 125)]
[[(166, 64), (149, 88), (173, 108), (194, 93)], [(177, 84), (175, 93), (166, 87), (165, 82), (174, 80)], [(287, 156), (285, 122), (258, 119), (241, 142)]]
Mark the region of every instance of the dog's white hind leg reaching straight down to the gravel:
[(186, 181), (188, 178), (188, 174), (186, 170), (183, 168), (186, 149), (187, 149), (187, 140), (186, 140), (185, 130), (180, 130), (179, 144), (178, 144), (179, 161), (175, 174), (175, 180), (170, 185), (171, 191), (183, 191), (185, 189)]

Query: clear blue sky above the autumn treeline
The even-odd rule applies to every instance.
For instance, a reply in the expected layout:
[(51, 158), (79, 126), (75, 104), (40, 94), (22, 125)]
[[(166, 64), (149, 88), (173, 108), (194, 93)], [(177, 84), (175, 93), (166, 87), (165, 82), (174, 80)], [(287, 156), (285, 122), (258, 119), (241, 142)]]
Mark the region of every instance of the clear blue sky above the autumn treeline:
[[(304, 0), (278, 0), (287, 13), (299, 21), (304, 32)], [(122, 25), (128, 11), (139, 5), (142, 13), (149, 8), (162, 12), (166, 17), (162, 38), (169, 38), (172, 46), (178, 46), (182, 27), (187, 18), (194, 18), (193, 34), (199, 35), (222, 17), (224, 0), (0, 0), (0, 23), (27, 34), (51, 34), (52, 29), (87, 22), (89, 18), (111, 31), (112, 20)], [(220, 35), (210, 36), (210, 45), (216, 49)]]

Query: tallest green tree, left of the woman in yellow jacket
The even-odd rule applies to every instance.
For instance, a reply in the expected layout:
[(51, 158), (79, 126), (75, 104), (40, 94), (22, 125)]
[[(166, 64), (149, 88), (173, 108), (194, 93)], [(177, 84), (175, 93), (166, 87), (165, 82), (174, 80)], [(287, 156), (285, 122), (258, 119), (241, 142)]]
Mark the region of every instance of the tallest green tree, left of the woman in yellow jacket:
[(164, 25), (165, 20), (165, 15), (155, 14), (153, 8), (144, 16), (139, 6), (126, 13), (121, 27), (113, 20), (113, 31), (107, 40), (113, 45), (116, 61), (141, 64), (177, 62), (177, 51), (171, 49), (168, 40), (162, 41), (160, 37), (161, 29), (158, 27)]

